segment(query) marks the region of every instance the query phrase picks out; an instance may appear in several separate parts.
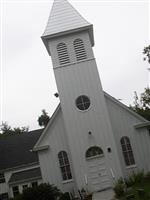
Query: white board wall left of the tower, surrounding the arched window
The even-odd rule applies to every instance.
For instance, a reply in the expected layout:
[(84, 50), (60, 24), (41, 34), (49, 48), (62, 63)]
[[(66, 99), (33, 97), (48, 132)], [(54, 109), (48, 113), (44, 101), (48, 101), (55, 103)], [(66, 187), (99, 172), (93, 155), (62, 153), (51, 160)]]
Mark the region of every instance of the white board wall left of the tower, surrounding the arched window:
[(58, 160), (58, 153), (62, 150), (66, 151), (68, 153), (71, 165), (70, 152), (67, 145), (66, 130), (64, 127), (61, 109), (59, 109), (54, 122), (48, 128), (44, 138), (40, 143), (40, 146), (45, 145), (49, 145), (49, 149), (38, 152), (44, 182), (49, 182), (50, 184), (57, 185), (58, 188), (64, 192), (71, 192), (74, 188), (74, 182), (70, 182), (69, 184), (63, 183)]

